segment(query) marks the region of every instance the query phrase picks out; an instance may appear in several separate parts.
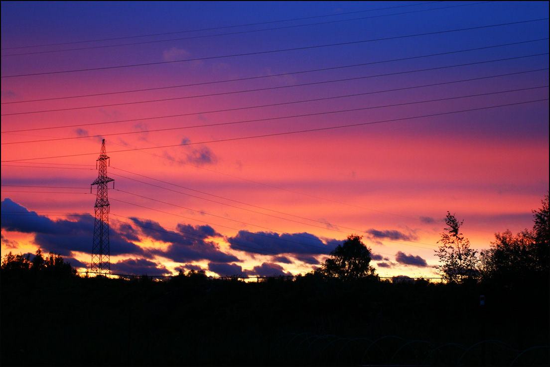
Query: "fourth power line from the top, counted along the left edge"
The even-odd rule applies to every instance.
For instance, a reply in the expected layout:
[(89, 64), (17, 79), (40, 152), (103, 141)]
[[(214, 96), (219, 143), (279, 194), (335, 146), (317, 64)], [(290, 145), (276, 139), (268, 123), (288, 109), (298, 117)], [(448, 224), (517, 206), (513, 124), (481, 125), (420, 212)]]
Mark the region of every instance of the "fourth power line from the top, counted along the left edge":
[[(26, 100), (26, 101), (2, 102), (2, 104), (27, 103), (27, 102), (43, 102), (43, 101), (55, 101), (55, 100), (58, 100), (58, 99), (108, 96), (108, 95), (112, 95), (112, 94), (134, 93), (134, 92), (147, 92), (147, 91), (157, 91), (157, 90), (164, 90), (164, 89), (170, 89), (170, 88), (181, 88), (181, 87), (191, 87), (191, 86), (201, 86), (201, 85), (210, 85), (210, 84), (227, 83), (227, 82), (233, 82), (233, 81), (245, 81), (245, 80), (263, 79), (263, 78), (269, 78), (269, 77), (278, 77), (278, 76), (296, 75), (296, 74), (304, 74), (304, 73), (313, 73), (313, 72), (316, 72), (316, 71), (328, 71), (328, 70), (337, 70), (337, 69), (345, 69), (345, 68), (355, 68), (355, 67), (357, 67), (357, 66), (366, 66), (366, 65), (375, 65), (375, 64), (396, 62), (396, 61), (413, 60), (413, 59), (419, 59), (419, 58), (426, 58), (426, 57), (433, 57), (433, 56), (441, 56), (441, 55), (449, 55), (449, 54), (462, 53), (462, 52), (469, 52), (469, 51), (480, 51), (480, 50), (482, 50), (482, 49), (497, 48), (497, 47), (505, 47), (505, 46), (514, 46), (514, 45), (521, 45), (521, 44), (524, 44), (524, 43), (531, 43), (531, 42), (538, 42), (538, 41), (547, 41), (547, 40), (548, 40), (548, 37), (547, 37), (547, 38), (538, 38), (538, 39), (536, 39), (536, 40), (521, 41), (521, 42), (512, 42), (512, 43), (504, 43), (504, 44), (501, 44), (501, 45), (493, 45), (493, 46), (469, 48), (469, 49), (462, 49), (462, 50), (458, 50), (458, 51), (440, 52), (440, 53), (434, 53), (434, 54), (428, 54), (428, 55), (420, 55), (420, 56), (412, 56), (412, 57), (405, 57), (405, 58), (398, 58), (398, 59), (382, 60), (382, 61), (370, 62), (370, 63), (361, 63), (361, 64), (343, 65), (343, 66), (333, 66), (332, 68), (321, 68), (321, 69), (301, 70), (301, 71), (294, 71), (294, 72), (292, 72), (292, 73), (279, 73), (279, 74), (272, 74), (272, 75), (250, 76), (250, 77), (241, 77), (241, 78), (237, 78), (237, 79), (217, 80), (217, 81), (210, 81), (210, 82), (200, 82), (200, 83), (182, 84), (182, 85), (174, 85), (174, 86), (166, 86), (166, 87), (156, 87), (156, 88), (143, 88), (143, 89), (136, 89), (136, 90), (129, 90), (129, 91), (117, 91), (117, 92), (94, 93), (94, 94), (81, 94), (81, 95), (78, 95), (78, 96), (65, 96), (65, 97), (55, 97), (55, 98), (29, 99), (29, 100)], [(70, 127), (73, 127), (73, 126), (80, 126), (80, 125), (71, 125)]]

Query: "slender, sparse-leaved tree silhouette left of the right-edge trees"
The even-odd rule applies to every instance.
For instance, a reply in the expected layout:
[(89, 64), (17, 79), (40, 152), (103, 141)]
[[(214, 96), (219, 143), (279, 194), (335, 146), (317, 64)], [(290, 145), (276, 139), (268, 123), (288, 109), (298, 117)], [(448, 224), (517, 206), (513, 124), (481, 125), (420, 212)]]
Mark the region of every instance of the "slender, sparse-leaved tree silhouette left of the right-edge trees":
[(470, 241), (459, 232), (463, 223), (464, 220), (459, 222), (453, 214), (447, 212), (447, 232), (441, 233), (441, 240), (437, 241), (441, 243), (435, 250), (439, 262), (442, 263), (438, 267), (439, 274), (449, 282), (463, 282), (479, 275), (477, 251), (470, 248)]

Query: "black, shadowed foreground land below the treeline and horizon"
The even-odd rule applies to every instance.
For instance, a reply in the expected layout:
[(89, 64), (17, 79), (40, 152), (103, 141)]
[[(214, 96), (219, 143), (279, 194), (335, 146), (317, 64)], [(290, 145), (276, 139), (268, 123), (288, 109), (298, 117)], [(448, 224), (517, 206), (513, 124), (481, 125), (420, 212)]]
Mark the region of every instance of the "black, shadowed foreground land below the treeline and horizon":
[(2, 365), (547, 365), (548, 280), (4, 277), (1, 358)]

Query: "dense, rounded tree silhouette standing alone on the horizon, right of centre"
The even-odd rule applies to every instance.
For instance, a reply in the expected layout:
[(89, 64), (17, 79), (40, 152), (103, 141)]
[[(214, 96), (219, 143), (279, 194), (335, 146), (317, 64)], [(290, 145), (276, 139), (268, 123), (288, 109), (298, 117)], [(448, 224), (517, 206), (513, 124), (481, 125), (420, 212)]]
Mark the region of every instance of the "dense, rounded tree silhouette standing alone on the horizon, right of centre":
[(331, 258), (317, 269), (315, 273), (324, 276), (351, 279), (366, 276), (376, 276), (375, 268), (369, 265), (371, 252), (363, 242), (362, 237), (350, 235), (343, 244), (339, 244), (331, 252)]

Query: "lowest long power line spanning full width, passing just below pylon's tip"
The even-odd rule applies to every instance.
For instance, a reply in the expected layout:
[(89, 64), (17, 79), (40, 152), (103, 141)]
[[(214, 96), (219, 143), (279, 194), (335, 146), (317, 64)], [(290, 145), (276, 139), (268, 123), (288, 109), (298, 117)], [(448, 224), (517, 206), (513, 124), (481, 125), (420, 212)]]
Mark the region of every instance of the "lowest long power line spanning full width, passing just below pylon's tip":
[[(261, 138), (261, 137), (271, 137), (271, 136), (282, 136), (282, 135), (302, 134), (302, 133), (304, 133), (304, 132), (323, 131), (323, 130), (335, 130), (335, 129), (343, 129), (343, 128), (345, 128), (345, 127), (356, 127), (356, 126), (365, 126), (365, 125), (375, 125), (375, 124), (383, 124), (383, 123), (392, 123), (392, 122), (395, 122), (395, 121), (405, 121), (405, 120), (420, 119), (420, 118), (426, 118), (426, 117), (450, 115), (450, 114), (455, 114), (455, 113), (464, 113), (464, 112), (480, 111), (480, 110), (486, 110), (486, 109), (491, 109), (491, 108), (509, 107), (509, 106), (512, 106), (512, 105), (520, 105), (520, 104), (526, 104), (526, 103), (536, 103), (536, 102), (543, 102), (543, 101), (548, 101), (548, 98), (535, 99), (535, 100), (524, 101), (524, 102), (515, 102), (515, 103), (499, 104), (499, 105), (486, 106), (486, 107), (479, 107), (479, 108), (470, 108), (470, 109), (464, 109), (464, 110), (458, 110), (458, 111), (451, 111), (451, 112), (441, 112), (441, 113), (434, 113), (434, 114), (421, 115), (421, 116), (412, 116), (412, 117), (405, 117), (405, 118), (398, 118), (398, 119), (381, 120), (381, 121), (371, 121), (371, 122), (368, 122), (368, 123), (358, 123), (358, 124), (349, 124), (349, 125), (340, 125), (340, 126), (329, 126), (329, 127), (318, 127), (318, 128), (316, 128), (316, 129), (306, 129), (306, 130), (298, 130), (298, 131), (277, 132), (277, 133), (273, 133), (273, 134), (263, 134), (263, 135), (254, 135), (254, 136), (243, 136), (243, 137), (226, 138), (226, 139), (202, 141), (202, 142), (195, 142), (195, 143), (189, 142), (189, 143), (183, 143), (183, 144), (169, 144), (169, 145), (164, 145), (164, 146), (154, 146), (154, 147), (145, 147), (145, 148), (120, 149), (120, 150), (118, 150), (118, 151), (112, 151), (111, 153), (133, 152), (133, 151), (145, 151), (145, 150), (149, 150), (149, 149), (172, 148), (172, 147), (182, 147), (182, 146), (196, 145), (196, 144), (219, 143), (219, 142), (226, 142), (226, 141), (248, 140), (248, 139), (254, 139), (254, 138)], [(67, 155), (53, 155), (53, 156), (51, 156), (51, 157), (38, 157), (38, 158), (25, 158), (25, 159), (2, 160), (1, 162), (2, 162), (2, 163), (12, 163), (12, 162), (23, 162), (23, 161), (25, 161), (25, 160), (35, 160), (35, 159), (51, 159), (51, 158), (82, 157), (82, 156), (84, 156), (84, 155), (92, 155), (92, 154), (97, 154), (97, 153), (94, 152), (94, 153), (80, 153), (80, 154), (67, 154)]]

